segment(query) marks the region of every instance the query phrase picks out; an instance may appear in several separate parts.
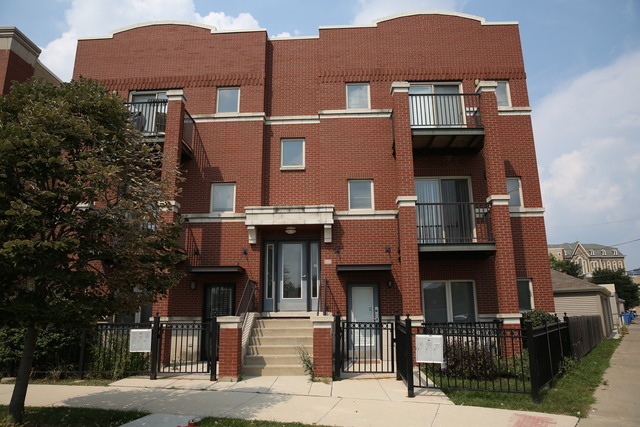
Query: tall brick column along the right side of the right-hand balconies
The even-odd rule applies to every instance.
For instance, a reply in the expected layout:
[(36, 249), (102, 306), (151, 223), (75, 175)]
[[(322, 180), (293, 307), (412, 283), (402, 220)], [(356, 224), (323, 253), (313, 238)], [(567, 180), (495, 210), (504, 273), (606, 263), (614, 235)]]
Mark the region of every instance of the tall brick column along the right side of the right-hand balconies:
[(485, 129), (485, 143), (482, 150), (491, 203), (491, 230), (496, 243), (494, 269), (496, 274), (497, 317), (505, 325), (518, 323), (521, 317), (518, 306), (518, 288), (513, 251), (509, 195), (505, 172), (505, 158), (499, 128), (497, 83), (483, 81), (476, 87), (480, 93), (480, 111)]

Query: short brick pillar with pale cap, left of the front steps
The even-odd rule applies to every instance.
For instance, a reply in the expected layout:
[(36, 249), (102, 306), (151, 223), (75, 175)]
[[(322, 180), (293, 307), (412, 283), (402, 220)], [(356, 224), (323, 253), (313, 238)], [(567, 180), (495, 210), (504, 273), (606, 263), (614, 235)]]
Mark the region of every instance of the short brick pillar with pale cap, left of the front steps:
[(238, 316), (224, 316), (218, 317), (218, 324), (218, 380), (238, 381), (242, 376), (242, 321)]

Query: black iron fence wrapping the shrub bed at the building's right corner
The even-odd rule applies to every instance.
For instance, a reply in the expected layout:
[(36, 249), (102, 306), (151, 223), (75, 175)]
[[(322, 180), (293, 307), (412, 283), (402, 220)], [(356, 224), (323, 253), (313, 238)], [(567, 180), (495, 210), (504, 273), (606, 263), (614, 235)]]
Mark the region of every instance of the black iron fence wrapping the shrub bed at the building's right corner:
[[(597, 322), (597, 324), (596, 324)], [(592, 337), (594, 319), (564, 318), (533, 327), (501, 322), (423, 323), (396, 316), (397, 376), (412, 397), (415, 388), (526, 393), (538, 400), (540, 390), (553, 386), (569, 358), (579, 359), (604, 338)], [(580, 332), (582, 331), (582, 332)], [(416, 359), (416, 335), (441, 340), (442, 362)], [(440, 342), (440, 341), (438, 341)], [(588, 343), (588, 344), (583, 344)], [(578, 349), (582, 349), (577, 351)]]

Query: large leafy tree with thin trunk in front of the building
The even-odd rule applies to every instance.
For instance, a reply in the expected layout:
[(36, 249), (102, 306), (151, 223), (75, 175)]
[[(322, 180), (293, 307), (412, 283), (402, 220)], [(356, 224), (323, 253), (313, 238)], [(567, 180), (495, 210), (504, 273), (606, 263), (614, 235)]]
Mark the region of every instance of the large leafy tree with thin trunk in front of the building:
[[(20, 422), (38, 331), (135, 311), (180, 277), (162, 153), (100, 84), (30, 80), (0, 97), (0, 326), (26, 328)], [(175, 171), (170, 171), (171, 173)]]

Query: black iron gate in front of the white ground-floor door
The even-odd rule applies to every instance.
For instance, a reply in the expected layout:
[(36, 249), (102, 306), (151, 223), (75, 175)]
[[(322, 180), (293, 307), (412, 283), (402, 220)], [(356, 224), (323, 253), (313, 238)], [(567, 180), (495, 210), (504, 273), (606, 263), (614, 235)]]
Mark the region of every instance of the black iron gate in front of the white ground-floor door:
[(335, 322), (336, 375), (395, 372), (393, 322)]

